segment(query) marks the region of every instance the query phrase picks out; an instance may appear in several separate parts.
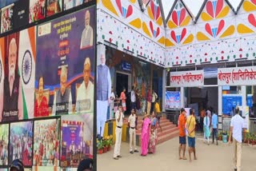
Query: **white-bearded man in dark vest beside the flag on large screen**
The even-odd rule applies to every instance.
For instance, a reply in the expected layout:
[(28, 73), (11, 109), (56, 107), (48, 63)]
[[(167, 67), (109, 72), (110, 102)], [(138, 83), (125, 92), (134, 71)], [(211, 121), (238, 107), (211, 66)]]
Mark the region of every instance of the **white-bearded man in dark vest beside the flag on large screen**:
[(9, 75), (4, 78), (3, 97), (0, 97), (3, 99), (2, 111), (0, 111), (2, 121), (17, 121), (23, 118), (22, 83), (16, 70), (17, 51), (16, 40), (12, 38), (8, 54)]

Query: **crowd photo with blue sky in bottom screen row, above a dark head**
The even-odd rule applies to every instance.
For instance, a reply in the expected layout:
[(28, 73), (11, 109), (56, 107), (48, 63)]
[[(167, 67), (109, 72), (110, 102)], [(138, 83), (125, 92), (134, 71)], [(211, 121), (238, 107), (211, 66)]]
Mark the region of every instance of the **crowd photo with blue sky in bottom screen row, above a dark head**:
[(19, 159), (23, 165), (32, 165), (33, 121), (10, 124), (9, 161)]

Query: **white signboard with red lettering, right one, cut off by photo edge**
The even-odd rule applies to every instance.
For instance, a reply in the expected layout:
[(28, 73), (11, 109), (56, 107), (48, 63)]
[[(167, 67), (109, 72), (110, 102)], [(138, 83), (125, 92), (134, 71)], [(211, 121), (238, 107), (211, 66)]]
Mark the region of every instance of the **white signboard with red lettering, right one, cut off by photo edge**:
[(218, 85), (255, 85), (256, 66), (219, 68)]

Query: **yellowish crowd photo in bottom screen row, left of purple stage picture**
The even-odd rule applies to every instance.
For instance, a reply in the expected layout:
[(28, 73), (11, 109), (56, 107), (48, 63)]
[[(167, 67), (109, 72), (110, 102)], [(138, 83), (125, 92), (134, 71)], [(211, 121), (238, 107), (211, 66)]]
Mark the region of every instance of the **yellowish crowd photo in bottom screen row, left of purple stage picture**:
[(59, 165), (59, 121), (57, 119), (34, 121), (33, 165)]

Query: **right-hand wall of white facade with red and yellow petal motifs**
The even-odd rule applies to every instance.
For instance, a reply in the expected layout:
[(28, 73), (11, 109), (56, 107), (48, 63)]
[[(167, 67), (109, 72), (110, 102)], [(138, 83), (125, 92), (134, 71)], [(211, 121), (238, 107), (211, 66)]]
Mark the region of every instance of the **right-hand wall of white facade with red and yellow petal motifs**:
[(254, 0), (243, 1), (238, 11), (226, 0), (208, 0), (190, 21), (178, 0), (166, 22), (166, 67), (255, 59), (255, 10)]

